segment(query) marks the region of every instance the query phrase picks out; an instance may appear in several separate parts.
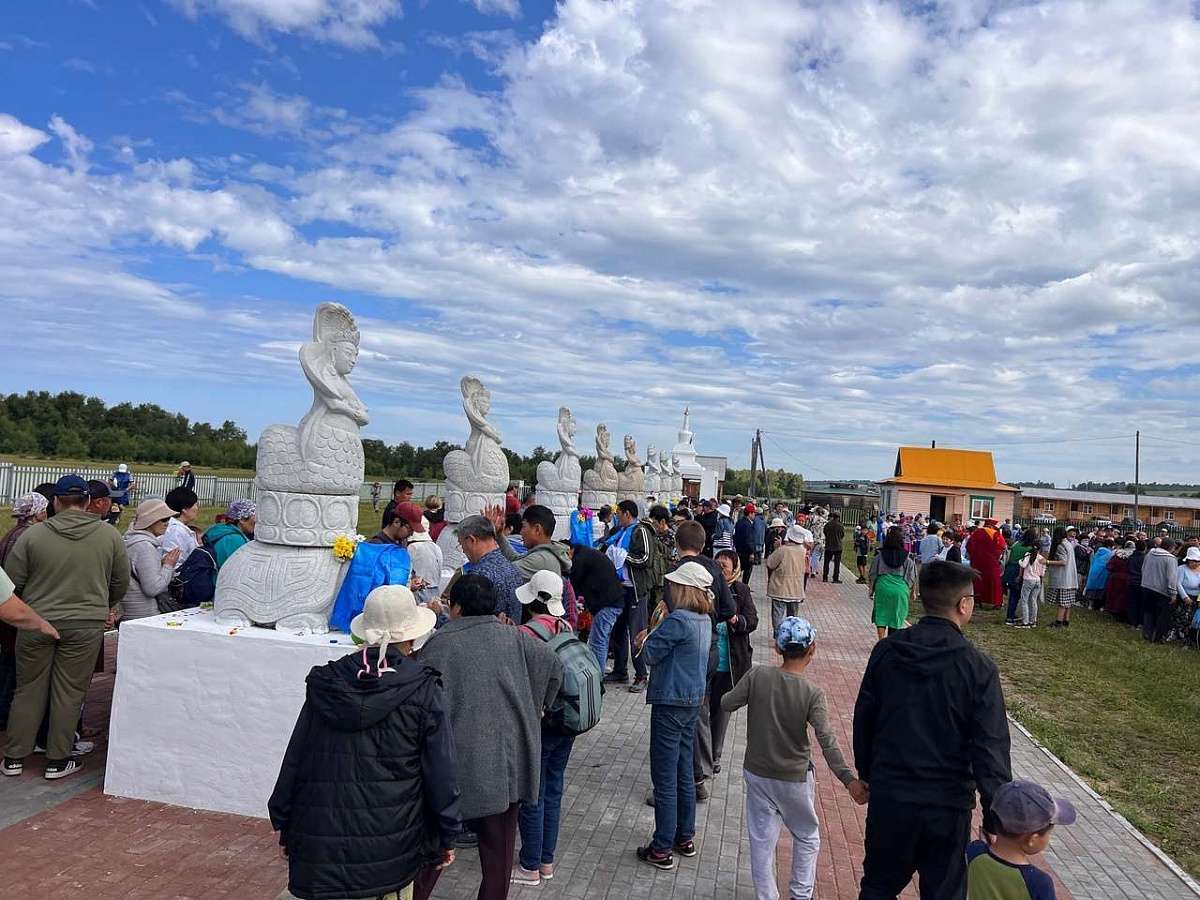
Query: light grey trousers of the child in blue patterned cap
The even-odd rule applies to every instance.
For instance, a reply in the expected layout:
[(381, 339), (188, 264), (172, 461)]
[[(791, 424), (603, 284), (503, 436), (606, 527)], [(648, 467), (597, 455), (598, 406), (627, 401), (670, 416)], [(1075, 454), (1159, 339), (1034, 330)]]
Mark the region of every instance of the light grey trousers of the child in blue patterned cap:
[(775, 883), (775, 845), (786, 826), (792, 834), (791, 900), (811, 900), (817, 877), (816, 779), (776, 781), (743, 772), (746, 781), (746, 830), (750, 838), (750, 874), (756, 900), (779, 900)]

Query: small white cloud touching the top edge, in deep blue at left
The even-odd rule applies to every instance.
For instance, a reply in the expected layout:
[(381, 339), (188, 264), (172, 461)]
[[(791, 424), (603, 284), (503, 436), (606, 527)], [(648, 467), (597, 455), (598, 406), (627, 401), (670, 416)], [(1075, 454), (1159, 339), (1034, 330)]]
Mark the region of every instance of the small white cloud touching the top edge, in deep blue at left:
[(186, 16), (228, 20), (244, 37), (260, 41), (280, 31), (350, 48), (377, 47), (376, 30), (401, 14), (400, 0), (170, 0)]

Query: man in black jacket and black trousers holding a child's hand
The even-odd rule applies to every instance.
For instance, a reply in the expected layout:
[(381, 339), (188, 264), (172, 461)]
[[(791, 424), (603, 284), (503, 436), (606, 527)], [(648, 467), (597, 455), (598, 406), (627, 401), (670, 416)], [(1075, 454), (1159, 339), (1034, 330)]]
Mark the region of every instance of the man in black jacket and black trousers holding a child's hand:
[(976, 571), (920, 570), (926, 616), (880, 641), (854, 704), (854, 764), (870, 788), (859, 900), (894, 900), (920, 874), (922, 898), (966, 898), (965, 850), (976, 791), (1012, 781), (996, 664), (962, 636)]

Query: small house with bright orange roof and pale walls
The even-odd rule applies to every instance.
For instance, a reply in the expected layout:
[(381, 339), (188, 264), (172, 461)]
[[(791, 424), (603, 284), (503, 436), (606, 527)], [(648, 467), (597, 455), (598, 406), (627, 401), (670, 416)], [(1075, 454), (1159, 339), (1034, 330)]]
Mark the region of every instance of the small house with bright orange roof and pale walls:
[(884, 512), (920, 512), (953, 524), (1012, 518), (1020, 493), (996, 480), (996, 463), (985, 450), (901, 446), (895, 474), (877, 484)]

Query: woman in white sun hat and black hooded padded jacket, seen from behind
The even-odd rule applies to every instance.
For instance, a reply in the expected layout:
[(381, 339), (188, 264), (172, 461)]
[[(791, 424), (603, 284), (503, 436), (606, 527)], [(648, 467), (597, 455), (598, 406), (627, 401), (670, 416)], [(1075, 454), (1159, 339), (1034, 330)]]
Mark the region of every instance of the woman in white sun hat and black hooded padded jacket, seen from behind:
[(350, 623), (362, 649), (308, 673), (268, 803), (283, 898), (404, 900), (419, 872), (454, 862), (462, 817), (442, 680), (409, 656), (436, 622), (407, 587), (376, 588)]

